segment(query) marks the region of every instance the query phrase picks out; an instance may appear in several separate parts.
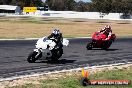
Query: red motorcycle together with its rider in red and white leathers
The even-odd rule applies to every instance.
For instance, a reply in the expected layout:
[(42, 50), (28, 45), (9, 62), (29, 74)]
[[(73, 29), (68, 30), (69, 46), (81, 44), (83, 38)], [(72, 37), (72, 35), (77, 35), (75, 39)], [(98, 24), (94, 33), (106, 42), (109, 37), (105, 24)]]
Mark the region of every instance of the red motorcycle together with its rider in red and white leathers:
[(106, 25), (100, 31), (95, 32), (92, 36), (92, 42), (88, 43), (86, 48), (91, 50), (92, 48), (101, 48), (107, 50), (114, 42), (116, 36), (112, 34), (111, 27)]

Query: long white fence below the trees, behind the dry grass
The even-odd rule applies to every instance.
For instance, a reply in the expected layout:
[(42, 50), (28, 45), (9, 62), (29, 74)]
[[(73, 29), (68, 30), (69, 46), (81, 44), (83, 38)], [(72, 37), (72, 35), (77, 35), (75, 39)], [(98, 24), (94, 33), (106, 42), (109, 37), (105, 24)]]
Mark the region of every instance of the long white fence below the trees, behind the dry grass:
[[(6, 15), (6, 16), (11, 16), (11, 15)], [(99, 12), (75, 12), (75, 11), (37, 11), (35, 13), (29, 13), (29, 14), (23, 13), (23, 15), (12, 15), (12, 16), (124, 20), (122, 13), (101, 14)], [(132, 20), (132, 15), (125, 18), (125, 20)]]

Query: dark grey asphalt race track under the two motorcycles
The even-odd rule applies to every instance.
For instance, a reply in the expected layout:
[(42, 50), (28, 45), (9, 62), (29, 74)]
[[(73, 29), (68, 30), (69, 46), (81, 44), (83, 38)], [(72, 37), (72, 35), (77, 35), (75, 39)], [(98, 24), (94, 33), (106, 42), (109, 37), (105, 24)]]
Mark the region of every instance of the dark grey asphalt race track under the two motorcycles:
[(70, 39), (57, 63), (37, 61), (28, 63), (27, 56), (37, 40), (0, 41), (0, 78), (71, 69), (80, 66), (132, 62), (132, 38), (117, 39), (109, 50), (87, 50), (90, 39)]

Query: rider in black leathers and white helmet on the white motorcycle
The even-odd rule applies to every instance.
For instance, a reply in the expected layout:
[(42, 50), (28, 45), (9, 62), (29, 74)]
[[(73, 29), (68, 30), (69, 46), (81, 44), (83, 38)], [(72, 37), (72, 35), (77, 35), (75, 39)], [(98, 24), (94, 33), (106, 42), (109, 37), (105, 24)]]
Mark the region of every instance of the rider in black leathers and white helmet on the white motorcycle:
[(56, 45), (62, 47), (63, 36), (59, 29), (54, 29), (53, 32), (48, 36), (48, 38), (55, 38)]

